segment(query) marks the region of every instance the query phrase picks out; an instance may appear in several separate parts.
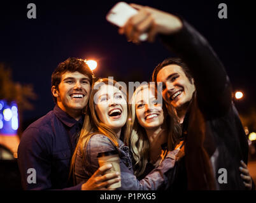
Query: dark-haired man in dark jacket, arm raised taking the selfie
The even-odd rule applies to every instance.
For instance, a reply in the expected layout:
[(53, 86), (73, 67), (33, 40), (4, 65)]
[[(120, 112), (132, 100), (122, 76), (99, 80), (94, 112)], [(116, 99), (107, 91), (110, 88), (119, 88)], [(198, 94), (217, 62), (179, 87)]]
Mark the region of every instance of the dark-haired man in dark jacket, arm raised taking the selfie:
[[(182, 59), (160, 63), (152, 79), (162, 82), (162, 96), (180, 118), (185, 143), (181, 171), (185, 168), (186, 188), (253, 189), (246, 168), (248, 142), (232, 103), (231, 83), (210, 44), (178, 16), (147, 6), (131, 6), (138, 13), (129, 18), (119, 33), (134, 43), (139, 43), (141, 34), (148, 34), (150, 42), (160, 34), (162, 41)], [(220, 181), (220, 170), (227, 172), (227, 183)]]

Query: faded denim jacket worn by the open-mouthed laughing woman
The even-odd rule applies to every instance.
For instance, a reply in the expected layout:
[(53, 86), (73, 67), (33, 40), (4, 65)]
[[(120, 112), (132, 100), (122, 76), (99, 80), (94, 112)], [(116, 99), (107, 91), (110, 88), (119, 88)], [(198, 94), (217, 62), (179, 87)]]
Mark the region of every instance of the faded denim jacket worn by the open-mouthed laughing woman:
[[(75, 162), (76, 183), (87, 181), (99, 168), (97, 154), (118, 150), (120, 155), (121, 185), (117, 190), (160, 190), (165, 188), (168, 181), (168, 174), (172, 173), (175, 162), (180, 158), (180, 151), (174, 150), (167, 154), (159, 167), (153, 169), (143, 180), (137, 180), (132, 169), (132, 160), (129, 148), (124, 142), (118, 140), (118, 149), (111, 140), (103, 134), (94, 134), (83, 152), (78, 150)], [(86, 153), (85, 153), (86, 152)], [(83, 153), (83, 156), (82, 156)], [(85, 159), (83, 159), (85, 157)]]

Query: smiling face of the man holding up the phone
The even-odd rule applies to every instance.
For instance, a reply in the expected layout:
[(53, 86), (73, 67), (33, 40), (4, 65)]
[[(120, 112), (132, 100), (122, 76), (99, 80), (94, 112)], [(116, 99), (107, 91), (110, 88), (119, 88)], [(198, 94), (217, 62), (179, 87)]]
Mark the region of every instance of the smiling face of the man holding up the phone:
[(163, 67), (157, 74), (157, 82), (162, 82), (162, 97), (176, 110), (185, 108), (195, 91), (194, 82), (190, 82), (179, 65)]

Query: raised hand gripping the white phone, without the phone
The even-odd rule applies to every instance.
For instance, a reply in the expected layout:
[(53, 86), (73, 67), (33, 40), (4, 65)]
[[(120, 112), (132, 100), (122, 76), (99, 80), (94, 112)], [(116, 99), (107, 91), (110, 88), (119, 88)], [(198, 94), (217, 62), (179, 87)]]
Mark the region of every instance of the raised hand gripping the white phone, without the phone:
[(153, 42), (157, 34), (173, 34), (182, 27), (180, 18), (170, 13), (138, 4), (130, 6), (138, 10), (138, 13), (119, 29), (119, 33), (125, 34), (128, 41), (139, 43), (139, 36), (147, 33), (148, 41)]

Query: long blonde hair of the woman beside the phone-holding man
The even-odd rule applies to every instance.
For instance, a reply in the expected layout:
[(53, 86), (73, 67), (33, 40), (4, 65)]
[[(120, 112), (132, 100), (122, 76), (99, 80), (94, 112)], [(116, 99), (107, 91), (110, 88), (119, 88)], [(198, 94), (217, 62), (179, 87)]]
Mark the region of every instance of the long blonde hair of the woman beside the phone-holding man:
[[(146, 135), (145, 128), (143, 128), (136, 117), (136, 95), (139, 91), (145, 88), (155, 88), (150, 84), (142, 84), (139, 86), (133, 93), (131, 102), (129, 104), (129, 108), (131, 110), (131, 135), (125, 138), (126, 142), (129, 143), (131, 152), (134, 159), (134, 174), (136, 176), (140, 176), (144, 173), (146, 169), (146, 164), (148, 162), (150, 143), (148, 140), (148, 136)], [(155, 91), (155, 96), (157, 97), (157, 91)], [(162, 103), (163, 111), (167, 114), (164, 118), (164, 122), (166, 122), (167, 126), (167, 149), (173, 150), (176, 143), (178, 142), (178, 137), (181, 134), (181, 127), (178, 122), (178, 117), (174, 109), (169, 107), (166, 108), (166, 104)]]

